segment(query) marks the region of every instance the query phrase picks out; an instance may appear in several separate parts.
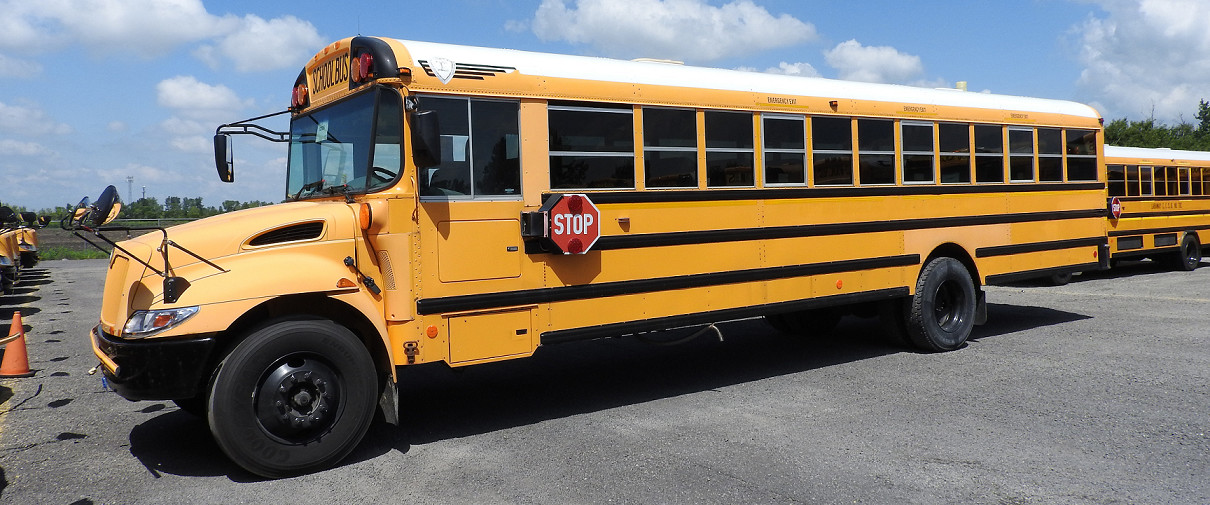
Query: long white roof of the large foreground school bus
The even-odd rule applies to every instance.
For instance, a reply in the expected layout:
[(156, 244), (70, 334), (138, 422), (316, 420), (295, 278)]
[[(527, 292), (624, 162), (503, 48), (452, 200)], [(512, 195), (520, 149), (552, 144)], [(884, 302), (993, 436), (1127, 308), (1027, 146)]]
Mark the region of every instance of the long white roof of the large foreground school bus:
[(837, 99), (912, 103), (924, 105), (968, 107), (996, 110), (1020, 110), (1065, 114), (1100, 119), (1089, 105), (1007, 94), (974, 93), (903, 85), (841, 81), (756, 71), (726, 70), (656, 62), (632, 62), (586, 56), (540, 53), (518, 50), (460, 46), (438, 42), (397, 40), (421, 61), (444, 58), (462, 65), (512, 68), (526, 75), (583, 79), (639, 85), (681, 86), (773, 94), (814, 96)]

